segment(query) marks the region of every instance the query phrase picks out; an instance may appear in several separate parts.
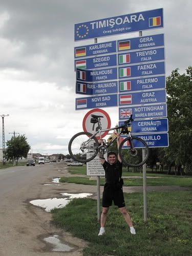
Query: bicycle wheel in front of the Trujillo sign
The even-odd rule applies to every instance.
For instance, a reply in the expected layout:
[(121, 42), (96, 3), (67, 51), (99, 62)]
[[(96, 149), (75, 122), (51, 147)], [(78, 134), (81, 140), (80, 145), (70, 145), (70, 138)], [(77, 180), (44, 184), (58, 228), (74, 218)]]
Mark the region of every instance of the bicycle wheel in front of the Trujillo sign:
[[(143, 149), (145, 153), (144, 159), (142, 157)], [(119, 145), (119, 156), (127, 166), (139, 167), (146, 163), (148, 159), (148, 146), (139, 137), (127, 137)]]

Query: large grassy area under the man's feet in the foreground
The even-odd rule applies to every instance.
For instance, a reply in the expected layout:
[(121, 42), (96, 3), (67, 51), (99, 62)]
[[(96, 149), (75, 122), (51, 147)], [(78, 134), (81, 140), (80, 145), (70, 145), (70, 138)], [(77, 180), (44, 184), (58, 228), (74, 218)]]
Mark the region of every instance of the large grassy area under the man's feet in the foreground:
[(66, 207), (52, 210), (52, 222), (89, 242), (83, 256), (192, 255), (191, 191), (147, 193), (147, 223), (143, 221), (143, 195), (124, 193), (124, 197), (136, 228), (135, 236), (131, 235), (118, 208), (112, 206), (106, 233), (98, 237), (100, 225), (94, 199), (73, 199)]

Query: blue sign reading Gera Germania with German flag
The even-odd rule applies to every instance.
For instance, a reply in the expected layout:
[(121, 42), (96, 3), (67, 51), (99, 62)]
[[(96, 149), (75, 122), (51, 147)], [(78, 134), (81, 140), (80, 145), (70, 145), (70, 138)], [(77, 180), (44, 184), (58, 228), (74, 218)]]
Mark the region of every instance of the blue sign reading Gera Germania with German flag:
[(140, 36), (117, 41), (118, 52), (127, 52), (160, 46), (164, 46), (164, 34)]

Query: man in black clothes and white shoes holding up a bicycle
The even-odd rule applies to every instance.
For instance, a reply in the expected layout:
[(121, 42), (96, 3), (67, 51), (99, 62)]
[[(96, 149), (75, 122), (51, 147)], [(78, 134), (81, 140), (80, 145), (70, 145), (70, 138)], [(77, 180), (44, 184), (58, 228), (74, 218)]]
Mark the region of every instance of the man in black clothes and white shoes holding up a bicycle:
[[(119, 148), (119, 138), (120, 134), (116, 134), (117, 137), (117, 148)], [(102, 143), (102, 140), (99, 140), (99, 143)], [(106, 215), (109, 211), (109, 207), (114, 202), (115, 205), (119, 207), (121, 214), (123, 215), (126, 223), (130, 226), (130, 232), (132, 234), (136, 234), (135, 229), (133, 227), (133, 223), (131, 221), (130, 215), (126, 211), (125, 202), (123, 197), (122, 190), (122, 161), (115, 152), (108, 153), (108, 162), (105, 161), (103, 156), (99, 154), (100, 162), (105, 171), (105, 180), (102, 197), (102, 213), (101, 213), (101, 228), (98, 236), (102, 236), (105, 233), (104, 225), (106, 222)]]

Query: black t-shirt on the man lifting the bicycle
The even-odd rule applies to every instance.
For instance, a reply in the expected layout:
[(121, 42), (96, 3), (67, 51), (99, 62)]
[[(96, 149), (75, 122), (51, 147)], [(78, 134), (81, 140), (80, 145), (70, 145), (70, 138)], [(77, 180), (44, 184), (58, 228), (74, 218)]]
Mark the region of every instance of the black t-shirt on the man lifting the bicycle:
[(103, 168), (105, 171), (106, 182), (117, 183), (122, 176), (122, 163), (117, 160), (116, 163), (110, 164), (106, 161), (103, 163)]

